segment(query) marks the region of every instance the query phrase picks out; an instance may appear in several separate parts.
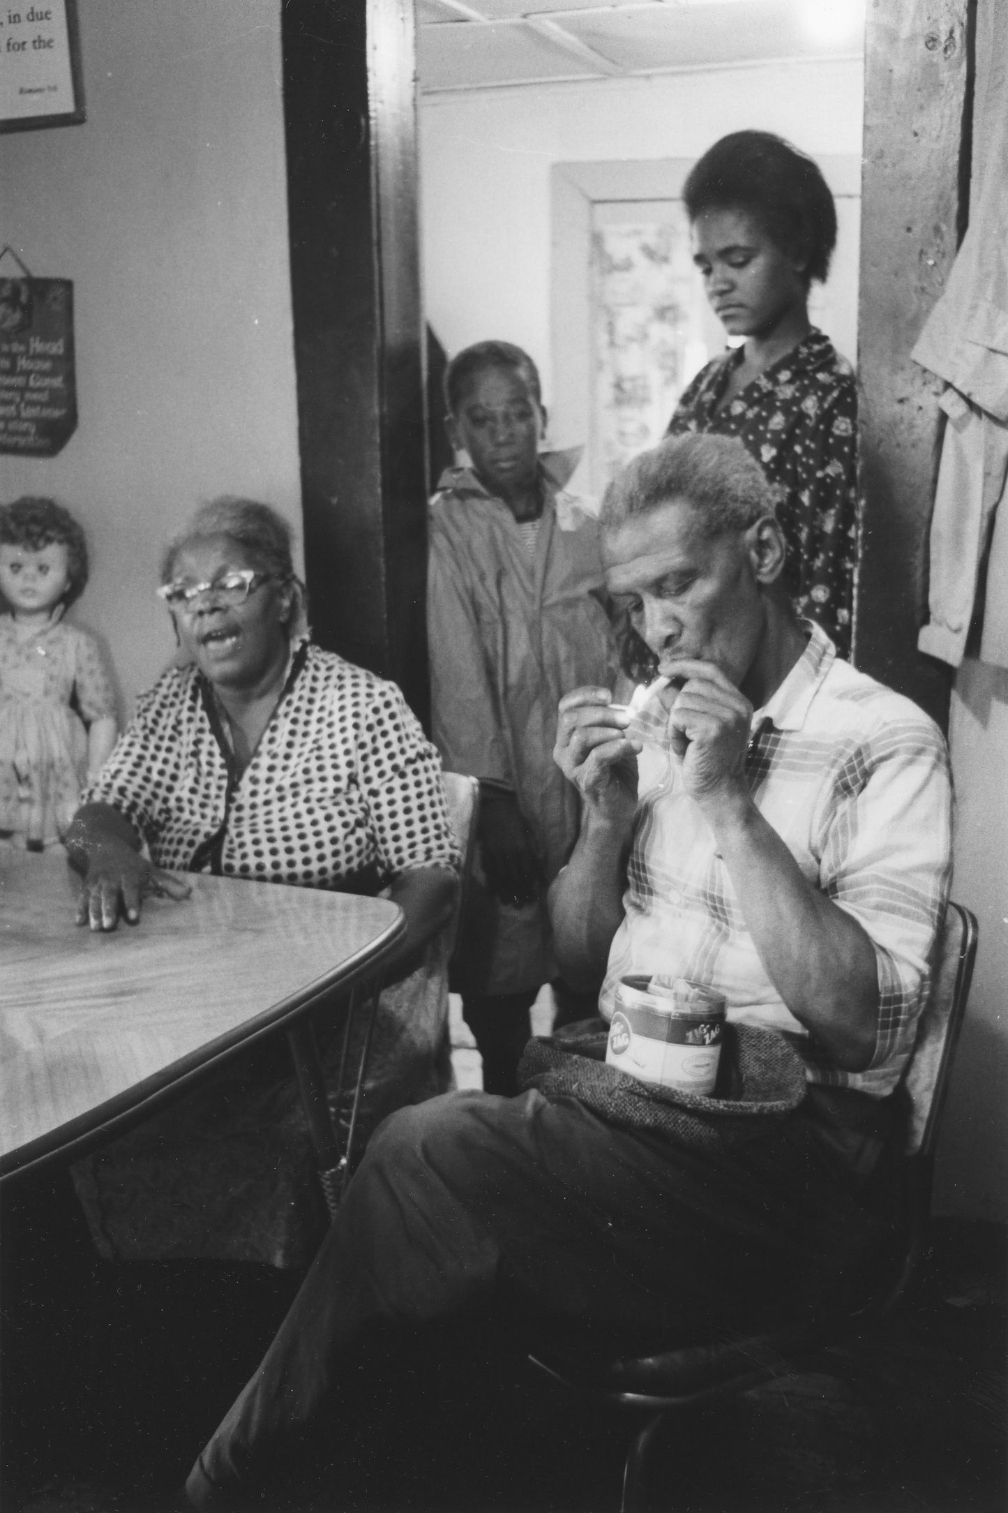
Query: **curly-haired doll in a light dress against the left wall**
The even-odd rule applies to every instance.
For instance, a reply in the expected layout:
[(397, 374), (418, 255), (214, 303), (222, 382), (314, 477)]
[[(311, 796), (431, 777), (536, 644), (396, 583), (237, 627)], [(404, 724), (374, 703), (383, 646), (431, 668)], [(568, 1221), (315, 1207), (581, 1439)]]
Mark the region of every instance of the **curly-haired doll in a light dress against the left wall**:
[[(63, 616), (88, 583), (85, 533), (53, 499), (0, 507), (0, 835), (57, 841), (116, 743), (98, 643)], [(79, 711), (79, 713), (77, 713)]]

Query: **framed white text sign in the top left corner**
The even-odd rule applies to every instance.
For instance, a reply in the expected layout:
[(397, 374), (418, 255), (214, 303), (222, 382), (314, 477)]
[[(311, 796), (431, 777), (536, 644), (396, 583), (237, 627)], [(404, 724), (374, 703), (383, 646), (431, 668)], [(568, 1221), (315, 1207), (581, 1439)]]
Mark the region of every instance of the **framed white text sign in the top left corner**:
[(83, 120), (77, 0), (0, 0), (0, 132)]

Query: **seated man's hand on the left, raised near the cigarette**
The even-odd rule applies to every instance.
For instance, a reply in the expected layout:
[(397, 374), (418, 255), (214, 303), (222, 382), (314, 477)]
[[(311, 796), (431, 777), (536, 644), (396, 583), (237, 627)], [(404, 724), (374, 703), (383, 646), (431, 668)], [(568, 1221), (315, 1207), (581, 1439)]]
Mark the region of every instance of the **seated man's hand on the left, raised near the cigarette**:
[(608, 688), (574, 688), (559, 702), (553, 760), (589, 811), (629, 826), (636, 809), (641, 743), (626, 731), (630, 716)]

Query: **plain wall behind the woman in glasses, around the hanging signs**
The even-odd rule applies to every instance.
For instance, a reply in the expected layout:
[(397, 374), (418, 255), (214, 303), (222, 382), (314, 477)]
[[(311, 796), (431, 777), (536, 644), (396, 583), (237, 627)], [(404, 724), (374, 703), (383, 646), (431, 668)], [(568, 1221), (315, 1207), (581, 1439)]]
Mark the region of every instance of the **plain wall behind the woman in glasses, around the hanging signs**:
[(0, 136), (0, 241), (74, 281), (80, 424), (59, 457), (0, 457), (0, 499), (83, 523), (71, 617), (128, 713), (174, 651), (156, 575), (195, 504), (251, 493), (299, 523), (280, 0), (79, 9), (88, 121)]

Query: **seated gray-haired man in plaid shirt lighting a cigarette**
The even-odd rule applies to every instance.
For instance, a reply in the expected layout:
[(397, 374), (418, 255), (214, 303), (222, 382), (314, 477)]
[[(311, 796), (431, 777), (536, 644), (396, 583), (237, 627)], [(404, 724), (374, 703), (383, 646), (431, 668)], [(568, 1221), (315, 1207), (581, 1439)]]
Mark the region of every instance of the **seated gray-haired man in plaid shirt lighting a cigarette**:
[(506, 1282), (671, 1347), (815, 1306), (870, 1262), (946, 902), (945, 743), (795, 617), (772, 496), (737, 440), (636, 458), (601, 548), (669, 681), (630, 711), (601, 687), (561, 702), (556, 760), (582, 797), (550, 890), (562, 970), (603, 1015), (627, 974), (710, 986), (728, 1020), (786, 1036), (805, 1095), (724, 1145), (536, 1089), (393, 1114), (192, 1472), (199, 1505), (242, 1505), (378, 1325), (491, 1309)]

